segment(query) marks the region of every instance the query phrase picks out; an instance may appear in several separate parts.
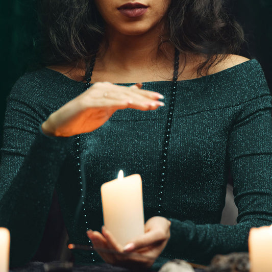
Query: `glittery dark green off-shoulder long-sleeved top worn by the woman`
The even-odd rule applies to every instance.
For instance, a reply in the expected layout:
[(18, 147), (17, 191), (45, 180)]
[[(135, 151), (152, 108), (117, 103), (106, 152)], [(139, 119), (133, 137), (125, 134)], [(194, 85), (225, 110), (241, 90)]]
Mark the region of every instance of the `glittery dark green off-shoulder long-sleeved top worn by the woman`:
[[(47, 68), (17, 81), (8, 98), (0, 176), (0, 225), (11, 231), (11, 265), (28, 262), (37, 250), (54, 188), (70, 242), (88, 244), (86, 230), (103, 225), (100, 187), (119, 169), (141, 175), (145, 219), (172, 218), (156, 269), (168, 258), (206, 264), (217, 253), (246, 251), (250, 228), (272, 224), (272, 105), (259, 63), (178, 82), (164, 183), (159, 173), (172, 83), (143, 88), (162, 93), (166, 106), (119, 110), (78, 139), (47, 137), (40, 125), (82, 93), (84, 83)], [(219, 224), (229, 171), (236, 226)], [(90, 252), (74, 255), (82, 264), (101, 261)]]

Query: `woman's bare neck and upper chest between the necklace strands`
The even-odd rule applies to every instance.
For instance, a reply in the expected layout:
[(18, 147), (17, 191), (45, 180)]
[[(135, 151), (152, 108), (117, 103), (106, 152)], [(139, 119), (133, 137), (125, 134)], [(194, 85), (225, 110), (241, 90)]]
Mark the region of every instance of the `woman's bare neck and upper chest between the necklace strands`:
[[(161, 30), (141, 35), (123, 35), (110, 29), (97, 55), (93, 79), (111, 82), (156, 81), (171, 78), (174, 46), (161, 43)], [(157, 73), (158, 75), (155, 75)], [(121, 81), (122, 79), (122, 81)]]

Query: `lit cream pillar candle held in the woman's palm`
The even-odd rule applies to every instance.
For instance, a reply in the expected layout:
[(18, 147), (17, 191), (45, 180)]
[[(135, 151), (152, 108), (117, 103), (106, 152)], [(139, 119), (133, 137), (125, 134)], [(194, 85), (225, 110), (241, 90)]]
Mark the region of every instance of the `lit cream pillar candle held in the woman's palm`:
[(144, 233), (142, 180), (138, 174), (101, 186), (104, 225), (122, 246)]

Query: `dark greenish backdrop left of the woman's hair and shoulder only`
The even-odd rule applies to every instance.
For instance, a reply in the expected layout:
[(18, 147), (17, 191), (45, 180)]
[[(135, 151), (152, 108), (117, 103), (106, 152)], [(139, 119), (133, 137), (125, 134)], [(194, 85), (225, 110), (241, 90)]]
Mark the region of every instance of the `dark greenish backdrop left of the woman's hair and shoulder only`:
[(0, 0), (0, 146), (6, 97), (33, 58), (38, 23), (36, 0)]

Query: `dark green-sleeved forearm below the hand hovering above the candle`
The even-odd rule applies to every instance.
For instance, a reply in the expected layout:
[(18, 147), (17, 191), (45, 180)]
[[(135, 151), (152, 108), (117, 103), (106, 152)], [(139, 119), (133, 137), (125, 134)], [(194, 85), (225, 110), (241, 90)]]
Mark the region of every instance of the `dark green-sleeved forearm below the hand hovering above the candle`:
[[(29, 261), (37, 250), (71, 140), (47, 137), (40, 130), (19, 169), (15, 169), (20, 164), (19, 156), (9, 156), (8, 150), (3, 151), (0, 222), (11, 232), (11, 266)], [(9, 164), (13, 168), (7, 169)], [(7, 171), (17, 172), (8, 180), (4, 179), (9, 176)]]

